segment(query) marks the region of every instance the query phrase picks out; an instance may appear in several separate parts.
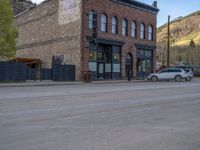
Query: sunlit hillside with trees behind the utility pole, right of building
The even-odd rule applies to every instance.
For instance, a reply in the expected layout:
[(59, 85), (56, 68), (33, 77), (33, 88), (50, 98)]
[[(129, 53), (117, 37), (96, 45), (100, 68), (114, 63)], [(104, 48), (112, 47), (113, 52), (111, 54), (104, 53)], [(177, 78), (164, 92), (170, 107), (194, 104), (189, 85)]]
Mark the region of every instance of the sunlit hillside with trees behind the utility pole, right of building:
[[(195, 47), (191, 48), (190, 42)], [(167, 24), (157, 30), (157, 61), (166, 63)], [(184, 61), (188, 65), (200, 65), (200, 11), (179, 17), (170, 23), (170, 62)]]

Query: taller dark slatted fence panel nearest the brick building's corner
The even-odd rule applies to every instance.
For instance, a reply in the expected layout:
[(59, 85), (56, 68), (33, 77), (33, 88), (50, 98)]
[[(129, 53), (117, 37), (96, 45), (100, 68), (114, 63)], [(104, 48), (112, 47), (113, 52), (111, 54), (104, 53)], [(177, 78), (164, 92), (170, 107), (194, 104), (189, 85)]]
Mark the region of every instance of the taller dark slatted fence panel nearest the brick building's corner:
[(75, 81), (75, 65), (54, 64), (52, 70), (54, 81)]

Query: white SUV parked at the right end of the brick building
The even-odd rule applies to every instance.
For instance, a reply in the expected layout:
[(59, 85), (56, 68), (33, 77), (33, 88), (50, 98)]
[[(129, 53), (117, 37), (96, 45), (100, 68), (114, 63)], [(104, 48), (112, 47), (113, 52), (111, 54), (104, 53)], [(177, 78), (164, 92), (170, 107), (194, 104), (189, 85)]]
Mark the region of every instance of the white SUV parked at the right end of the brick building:
[(167, 68), (159, 71), (158, 73), (149, 74), (147, 76), (148, 80), (157, 81), (157, 80), (172, 80), (181, 81), (182, 79), (187, 80), (189, 78), (188, 73), (181, 68)]

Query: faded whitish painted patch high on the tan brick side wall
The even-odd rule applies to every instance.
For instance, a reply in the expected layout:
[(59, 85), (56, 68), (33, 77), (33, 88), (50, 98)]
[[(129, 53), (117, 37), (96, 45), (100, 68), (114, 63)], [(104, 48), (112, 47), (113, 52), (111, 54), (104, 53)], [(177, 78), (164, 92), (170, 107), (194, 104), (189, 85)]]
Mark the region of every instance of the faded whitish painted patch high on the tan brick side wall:
[(81, 0), (59, 0), (59, 24), (68, 24), (81, 18)]

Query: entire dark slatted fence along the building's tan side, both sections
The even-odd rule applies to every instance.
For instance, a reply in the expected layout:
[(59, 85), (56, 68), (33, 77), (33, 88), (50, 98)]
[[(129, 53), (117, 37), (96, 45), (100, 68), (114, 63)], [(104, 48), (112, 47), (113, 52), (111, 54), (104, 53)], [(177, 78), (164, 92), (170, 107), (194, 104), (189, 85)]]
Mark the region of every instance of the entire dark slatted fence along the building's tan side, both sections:
[[(0, 80), (36, 80), (36, 69), (26, 63), (0, 62)], [(52, 69), (41, 69), (41, 80), (75, 81), (75, 66), (54, 64)]]

